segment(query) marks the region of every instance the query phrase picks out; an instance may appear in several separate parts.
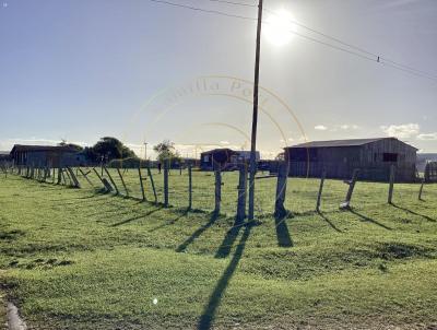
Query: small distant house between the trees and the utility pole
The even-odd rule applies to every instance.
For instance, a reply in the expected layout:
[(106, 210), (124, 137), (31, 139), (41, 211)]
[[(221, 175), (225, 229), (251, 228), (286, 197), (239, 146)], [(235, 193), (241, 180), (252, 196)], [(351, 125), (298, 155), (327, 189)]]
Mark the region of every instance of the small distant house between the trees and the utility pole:
[[(256, 153), (257, 162), (260, 160), (260, 153)], [(250, 161), (250, 151), (235, 151), (232, 149), (214, 149), (200, 154), (200, 168), (203, 170), (212, 170), (220, 168), (221, 170), (237, 169), (238, 164), (248, 163)]]

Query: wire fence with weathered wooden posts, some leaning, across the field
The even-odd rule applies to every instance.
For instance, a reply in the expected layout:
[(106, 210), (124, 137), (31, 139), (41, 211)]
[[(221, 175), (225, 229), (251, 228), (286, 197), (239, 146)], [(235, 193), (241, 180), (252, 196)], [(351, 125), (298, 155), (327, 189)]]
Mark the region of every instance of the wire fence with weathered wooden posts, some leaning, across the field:
[[(111, 192), (121, 197), (144, 199), (146, 202), (165, 202), (164, 170), (156, 168), (32, 168), (32, 167), (3, 167), (3, 173), (17, 174), (22, 177), (33, 178), (49, 184), (79, 186), (82, 189), (105, 190), (104, 181), (115, 188)], [(215, 173), (202, 172), (197, 168), (191, 170), (191, 209), (212, 212), (216, 205)], [(237, 213), (239, 172), (223, 172), (221, 175), (220, 212), (227, 215)], [(141, 179), (142, 178), (142, 179)], [(190, 205), (189, 169), (168, 169), (168, 207), (188, 208)], [(279, 178), (269, 173), (258, 173), (256, 179), (256, 215), (265, 216), (275, 212), (277, 199)], [(286, 178), (284, 205), (292, 214), (314, 212), (317, 200), (320, 198), (320, 211), (331, 212), (339, 210), (345, 200), (349, 184), (342, 180), (327, 179), (320, 191), (320, 179), (317, 178)], [(353, 205), (373, 207), (387, 203), (389, 195), (388, 182), (357, 181), (353, 190)], [(437, 189), (435, 184), (395, 184), (393, 187), (393, 203), (405, 203), (412, 200), (435, 202)], [(321, 193), (320, 193), (321, 192)], [(320, 197), (319, 197), (320, 193)], [(156, 195), (156, 200), (155, 200)]]

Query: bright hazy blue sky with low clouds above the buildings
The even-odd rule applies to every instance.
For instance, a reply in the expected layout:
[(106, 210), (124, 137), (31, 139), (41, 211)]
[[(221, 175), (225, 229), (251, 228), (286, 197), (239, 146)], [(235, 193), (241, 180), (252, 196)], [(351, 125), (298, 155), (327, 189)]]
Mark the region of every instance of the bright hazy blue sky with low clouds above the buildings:
[[(257, 16), (253, 7), (174, 2)], [(273, 28), (263, 24), (260, 84), (270, 91), (260, 96), (263, 156), (305, 137), (394, 135), (437, 152), (437, 79), (274, 28), (334, 43), (287, 25), (296, 20), (437, 76), (437, 1), (264, 5), (280, 16), (264, 12)], [(255, 21), (149, 0), (0, 0), (0, 150), (61, 139), (94, 144), (104, 135), (141, 154), (144, 141), (164, 139), (182, 155), (214, 145), (248, 149), (252, 106), (245, 81), (253, 80), (255, 37)]]

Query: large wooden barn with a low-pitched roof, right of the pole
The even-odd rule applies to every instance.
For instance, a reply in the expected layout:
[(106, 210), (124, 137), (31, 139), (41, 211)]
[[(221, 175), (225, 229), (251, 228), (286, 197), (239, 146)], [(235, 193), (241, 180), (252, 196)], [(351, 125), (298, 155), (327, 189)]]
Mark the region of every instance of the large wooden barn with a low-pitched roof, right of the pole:
[(416, 179), (417, 149), (395, 138), (314, 141), (285, 148), (290, 176), (387, 181), (395, 167), (397, 181)]

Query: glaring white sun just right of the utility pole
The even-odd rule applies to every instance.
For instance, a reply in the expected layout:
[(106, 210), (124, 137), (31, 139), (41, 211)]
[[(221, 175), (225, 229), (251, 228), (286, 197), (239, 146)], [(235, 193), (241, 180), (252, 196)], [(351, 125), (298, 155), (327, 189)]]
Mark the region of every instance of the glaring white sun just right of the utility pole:
[(263, 28), (267, 39), (275, 46), (288, 44), (296, 32), (292, 14), (284, 9), (268, 16)]

